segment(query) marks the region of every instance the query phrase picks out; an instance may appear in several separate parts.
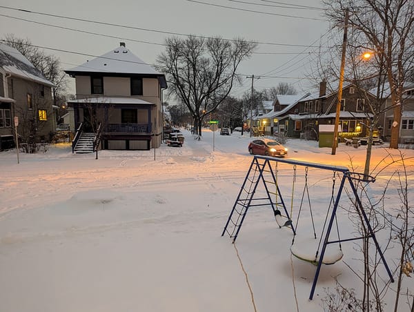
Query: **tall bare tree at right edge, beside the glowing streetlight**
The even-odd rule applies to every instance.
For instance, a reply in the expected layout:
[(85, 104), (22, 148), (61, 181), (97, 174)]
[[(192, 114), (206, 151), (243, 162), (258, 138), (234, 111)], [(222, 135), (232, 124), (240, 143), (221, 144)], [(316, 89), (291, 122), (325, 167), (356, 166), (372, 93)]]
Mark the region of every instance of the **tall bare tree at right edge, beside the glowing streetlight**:
[(414, 5), (409, 0), (324, 0), (326, 15), (341, 27), (349, 10), (348, 32), (375, 54), (388, 79), (393, 104), (390, 148), (398, 148), (404, 83), (413, 68)]

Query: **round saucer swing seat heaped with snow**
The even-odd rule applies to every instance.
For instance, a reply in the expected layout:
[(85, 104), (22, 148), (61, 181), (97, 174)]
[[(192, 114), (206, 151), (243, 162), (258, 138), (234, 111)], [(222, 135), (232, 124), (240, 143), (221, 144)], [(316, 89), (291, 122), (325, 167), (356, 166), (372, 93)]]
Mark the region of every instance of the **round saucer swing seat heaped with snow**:
[[(290, 252), (300, 260), (311, 262), (311, 264), (317, 265), (319, 263), (319, 254), (322, 251), (322, 246), (320, 246), (319, 253), (317, 257), (315, 257), (318, 244), (319, 240), (315, 240), (313, 237), (299, 241), (295, 239), (293, 245), (290, 246)], [(344, 253), (342, 253), (342, 250), (339, 249), (339, 246), (337, 246), (337, 244), (328, 244), (326, 245), (325, 255), (324, 259), (322, 259), (322, 263), (335, 264), (341, 260), (343, 256)]]

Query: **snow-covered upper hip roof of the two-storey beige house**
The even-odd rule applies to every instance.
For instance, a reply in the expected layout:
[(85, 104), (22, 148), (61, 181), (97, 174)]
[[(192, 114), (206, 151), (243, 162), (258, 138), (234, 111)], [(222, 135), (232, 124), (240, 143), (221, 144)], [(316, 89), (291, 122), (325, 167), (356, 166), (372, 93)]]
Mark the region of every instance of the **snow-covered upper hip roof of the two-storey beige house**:
[[(134, 55), (125, 46), (118, 46), (109, 52), (86, 61), (80, 66), (65, 70), (69, 75), (79, 75), (81, 73), (110, 73), (110, 74), (128, 74), (128, 75), (148, 75), (156, 76), (165, 83), (166, 79), (163, 73), (157, 72), (149, 64)], [(164, 87), (164, 86), (163, 86)]]

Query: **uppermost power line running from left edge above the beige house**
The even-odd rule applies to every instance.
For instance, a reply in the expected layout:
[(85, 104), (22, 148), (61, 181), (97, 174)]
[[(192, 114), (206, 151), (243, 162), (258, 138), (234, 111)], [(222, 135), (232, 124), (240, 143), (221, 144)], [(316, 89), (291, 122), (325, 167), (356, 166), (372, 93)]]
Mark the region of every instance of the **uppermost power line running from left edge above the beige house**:
[[(127, 28), (127, 29), (134, 29), (134, 30), (143, 30), (143, 31), (148, 31), (148, 32), (157, 32), (157, 33), (166, 34), (166, 35), (177, 35), (177, 36), (184, 36), (184, 37), (193, 36), (193, 37), (197, 37), (197, 38), (201, 38), (201, 39), (214, 39), (213, 37), (207, 37), (207, 36), (190, 35), (190, 34), (184, 34), (184, 33), (181, 33), (181, 32), (169, 32), (169, 31), (166, 31), (166, 30), (155, 30), (155, 29), (150, 29), (150, 28), (141, 28), (141, 27), (135, 27), (135, 26), (122, 25), (122, 24), (108, 23), (108, 22), (105, 22), (105, 21), (94, 21), (94, 20), (90, 20), (90, 19), (79, 19), (77, 17), (66, 17), (66, 16), (63, 16), (63, 15), (36, 12), (36, 11), (26, 10), (26, 9), (12, 8), (12, 7), (9, 7), (9, 6), (0, 6), (0, 8), (5, 8), (5, 9), (8, 9), (8, 10), (15, 10), (15, 11), (19, 11), (19, 12), (25, 12), (25, 13), (30, 13), (30, 14), (44, 15), (44, 16), (48, 16), (48, 17), (57, 17), (59, 19), (69, 19), (69, 20), (73, 20), (73, 21), (83, 21), (83, 22), (86, 22), (86, 23), (97, 23), (99, 25), (105, 25), (105, 26), (113, 26), (113, 27)], [(237, 39), (224, 39), (224, 40), (231, 41), (231, 42), (237, 41)], [(260, 42), (260, 41), (251, 41), (251, 42), (254, 42), (254, 43), (257, 43), (257, 44), (266, 44), (266, 45), (270, 45), (270, 46), (307, 47), (306, 45), (301, 45), (301, 44)]]

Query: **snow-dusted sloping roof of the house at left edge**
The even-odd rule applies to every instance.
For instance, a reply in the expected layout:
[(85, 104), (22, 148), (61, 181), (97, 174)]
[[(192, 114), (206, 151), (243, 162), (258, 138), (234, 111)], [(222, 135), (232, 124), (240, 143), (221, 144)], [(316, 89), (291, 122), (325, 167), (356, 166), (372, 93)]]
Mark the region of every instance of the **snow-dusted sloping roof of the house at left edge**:
[(8, 74), (35, 81), (45, 86), (54, 86), (18, 50), (0, 43), (0, 66)]

